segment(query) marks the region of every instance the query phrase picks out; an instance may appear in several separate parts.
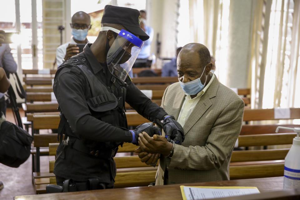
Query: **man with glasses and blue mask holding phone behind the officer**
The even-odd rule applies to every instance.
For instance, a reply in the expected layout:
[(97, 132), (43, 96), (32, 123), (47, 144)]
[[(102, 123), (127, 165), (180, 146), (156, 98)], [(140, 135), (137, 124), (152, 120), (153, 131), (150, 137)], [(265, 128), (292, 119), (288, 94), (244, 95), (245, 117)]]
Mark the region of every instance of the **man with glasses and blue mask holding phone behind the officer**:
[(79, 54), (79, 47), (76, 44), (87, 44), (89, 43), (87, 39), (88, 30), (91, 29), (91, 19), (90, 16), (79, 11), (75, 13), (72, 17), (72, 23), (70, 24), (72, 28), (72, 39), (70, 42), (60, 45), (56, 49), (56, 64), (57, 66), (63, 63), (63, 59), (67, 60), (74, 55)]

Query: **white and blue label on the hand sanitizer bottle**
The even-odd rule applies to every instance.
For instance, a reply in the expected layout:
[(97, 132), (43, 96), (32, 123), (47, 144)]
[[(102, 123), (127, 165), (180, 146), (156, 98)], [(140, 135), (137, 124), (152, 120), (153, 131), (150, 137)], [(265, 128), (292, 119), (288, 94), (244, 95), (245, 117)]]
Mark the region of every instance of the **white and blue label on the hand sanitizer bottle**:
[(284, 166), (283, 189), (300, 188), (300, 170)]

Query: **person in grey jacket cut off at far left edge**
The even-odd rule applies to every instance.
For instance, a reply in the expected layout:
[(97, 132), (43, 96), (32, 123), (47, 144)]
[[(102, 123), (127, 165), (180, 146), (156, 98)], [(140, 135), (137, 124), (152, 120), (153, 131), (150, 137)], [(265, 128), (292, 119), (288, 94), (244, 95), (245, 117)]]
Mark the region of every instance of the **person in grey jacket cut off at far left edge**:
[[(8, 44), (2, 44), (4, 41), (4, 35), (1, 34), (4, 33), (4, 31), (0, 30), (0, 69), (1, 69), (1, 77), (3, 78), (2, 81), (5, 81), (7, 78), (5, 73), (15, 73), (17, 71), (17, 63), (12, 57), (12, 53), (10, 52), (10, 47)], [(4, 73), (4, 74), (3, 74)], [(5, 75), (5, 77), (4, 77)], [(1, 82), (0, 87), (5, 87), (4, 82)], [(9, 85), (8, 85), (9, 87)], [(6, 90), (2, 90), (2, 92), (6, 92), (8, 90), (8, 87)], [(4, 98), (4, 94), (0, 92), (0, 112), (2, 111), (4, 115), (6, 115), (6, 102)]]

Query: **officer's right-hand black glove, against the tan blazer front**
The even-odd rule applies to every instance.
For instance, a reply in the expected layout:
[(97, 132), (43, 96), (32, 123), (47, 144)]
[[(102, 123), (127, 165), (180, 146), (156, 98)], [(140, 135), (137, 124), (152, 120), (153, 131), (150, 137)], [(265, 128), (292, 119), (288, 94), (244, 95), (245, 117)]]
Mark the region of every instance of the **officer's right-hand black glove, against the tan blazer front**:
[(170, 142), (173, 140), (175, 144), (181, 144), (184, 141), (183, 127), (175, 120), (172, 115), (165, 115), (162, 121), (163, 131), (165, 131), (166, 139)]

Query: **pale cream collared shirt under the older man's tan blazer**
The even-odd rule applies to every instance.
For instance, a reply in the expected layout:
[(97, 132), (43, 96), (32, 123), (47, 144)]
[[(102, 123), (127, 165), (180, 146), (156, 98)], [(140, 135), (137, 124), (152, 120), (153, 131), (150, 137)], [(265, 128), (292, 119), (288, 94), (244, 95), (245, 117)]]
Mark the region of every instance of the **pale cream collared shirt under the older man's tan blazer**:
[(181, 107), (181, 110), (180, 110), (180, 113), (179, 113), (179, 116), (178, 116), (178, 119), (177, 119), (177, 121), (179, 122), (179, 124), (182, 127), (185, 125), (185, 122), (186, 122), (187, 118), (191, 115), (192, 111), (196, 107), (196, 105), (199, 102), (202, 95), (206, 92), (207, 88), (211, 85), (214, 77), (215, 77), (215, 74), (212, 74), (212, 78), (210, 79), (208, 84), (193, 99), (191, 98), (191, 95), (185, 93), (185, 95), (186, 95), (185, 100), (183, 102), (183, 105)]

